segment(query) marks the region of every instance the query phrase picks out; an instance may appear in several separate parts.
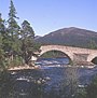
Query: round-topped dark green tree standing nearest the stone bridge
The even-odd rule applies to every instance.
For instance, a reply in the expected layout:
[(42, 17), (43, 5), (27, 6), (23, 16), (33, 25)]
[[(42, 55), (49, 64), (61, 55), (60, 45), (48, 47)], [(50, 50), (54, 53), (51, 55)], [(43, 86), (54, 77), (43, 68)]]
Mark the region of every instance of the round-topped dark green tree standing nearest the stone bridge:
[(34, 43), (34, 31), (27, 20), (24, 20), (22, 24), (20, 40), (23, 58), (25, 64), (28, 65), (31, 56), (36, 55), (34, 52), (39, 51), (40, 46)]

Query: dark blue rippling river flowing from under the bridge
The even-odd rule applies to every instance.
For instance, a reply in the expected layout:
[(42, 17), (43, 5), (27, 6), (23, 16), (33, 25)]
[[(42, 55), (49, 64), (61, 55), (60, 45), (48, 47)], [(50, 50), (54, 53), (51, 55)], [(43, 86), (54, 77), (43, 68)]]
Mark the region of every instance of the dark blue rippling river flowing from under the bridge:
[[(55, 66), (48, 67), (47, 62)], [(78, 82), (78, 86), (83, 86), (97, 74), (97, 67), (93, 69), (56, 67), (65, 62), (68, 64), (69, 60), (67, 58), (40, 59), (37, 65), (41, 65), (42, 69), (10, 72), (6, 84), (2, 81), (0, 98), (65, 98), (68, 95), (66, 90), (72, 86), (69, 83)], [(66, 87), (67, 83), (68, 87)]]

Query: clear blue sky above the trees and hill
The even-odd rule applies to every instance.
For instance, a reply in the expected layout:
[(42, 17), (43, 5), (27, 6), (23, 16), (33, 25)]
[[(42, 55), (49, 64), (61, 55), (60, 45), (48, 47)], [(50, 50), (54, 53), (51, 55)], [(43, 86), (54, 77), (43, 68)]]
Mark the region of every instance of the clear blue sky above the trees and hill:
[[(13, 0), (19, 25), (28, 20), (37, 36), (78, 27), (97, 31), (97, 0)], [(0, 0), (0, 13), (8, 19), (10, 0)]]

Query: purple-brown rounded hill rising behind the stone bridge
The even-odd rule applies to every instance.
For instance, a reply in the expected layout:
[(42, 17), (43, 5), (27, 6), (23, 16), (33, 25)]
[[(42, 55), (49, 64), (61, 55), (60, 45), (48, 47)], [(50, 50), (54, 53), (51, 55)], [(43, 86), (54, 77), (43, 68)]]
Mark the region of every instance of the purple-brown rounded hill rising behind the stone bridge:
[(70, 27), (53, 31), (44, 37), (38, 37), (37, 42), (42, 44), (59, 44), (80, 47), (89, 47), (92, 42), (97, 43), (97, 32)]

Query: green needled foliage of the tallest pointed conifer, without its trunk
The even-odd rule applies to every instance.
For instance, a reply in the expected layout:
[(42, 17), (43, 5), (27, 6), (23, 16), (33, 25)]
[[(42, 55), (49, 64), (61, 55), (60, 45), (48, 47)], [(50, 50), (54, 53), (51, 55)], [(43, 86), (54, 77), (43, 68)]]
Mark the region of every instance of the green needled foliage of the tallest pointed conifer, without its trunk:
[(8, 19), (8, 37), (10, 39), (10, 54), (12, 52), (12, 55), (14, 55), (14, 52), (18, 51), (19, 48), (19, 26), (17, 25), (16, 17), (16, 10), (14, 8), (13, 1), (11, 0), (11, 6), (10, 6), (10, 13), (9, 13), (9, 19)]

